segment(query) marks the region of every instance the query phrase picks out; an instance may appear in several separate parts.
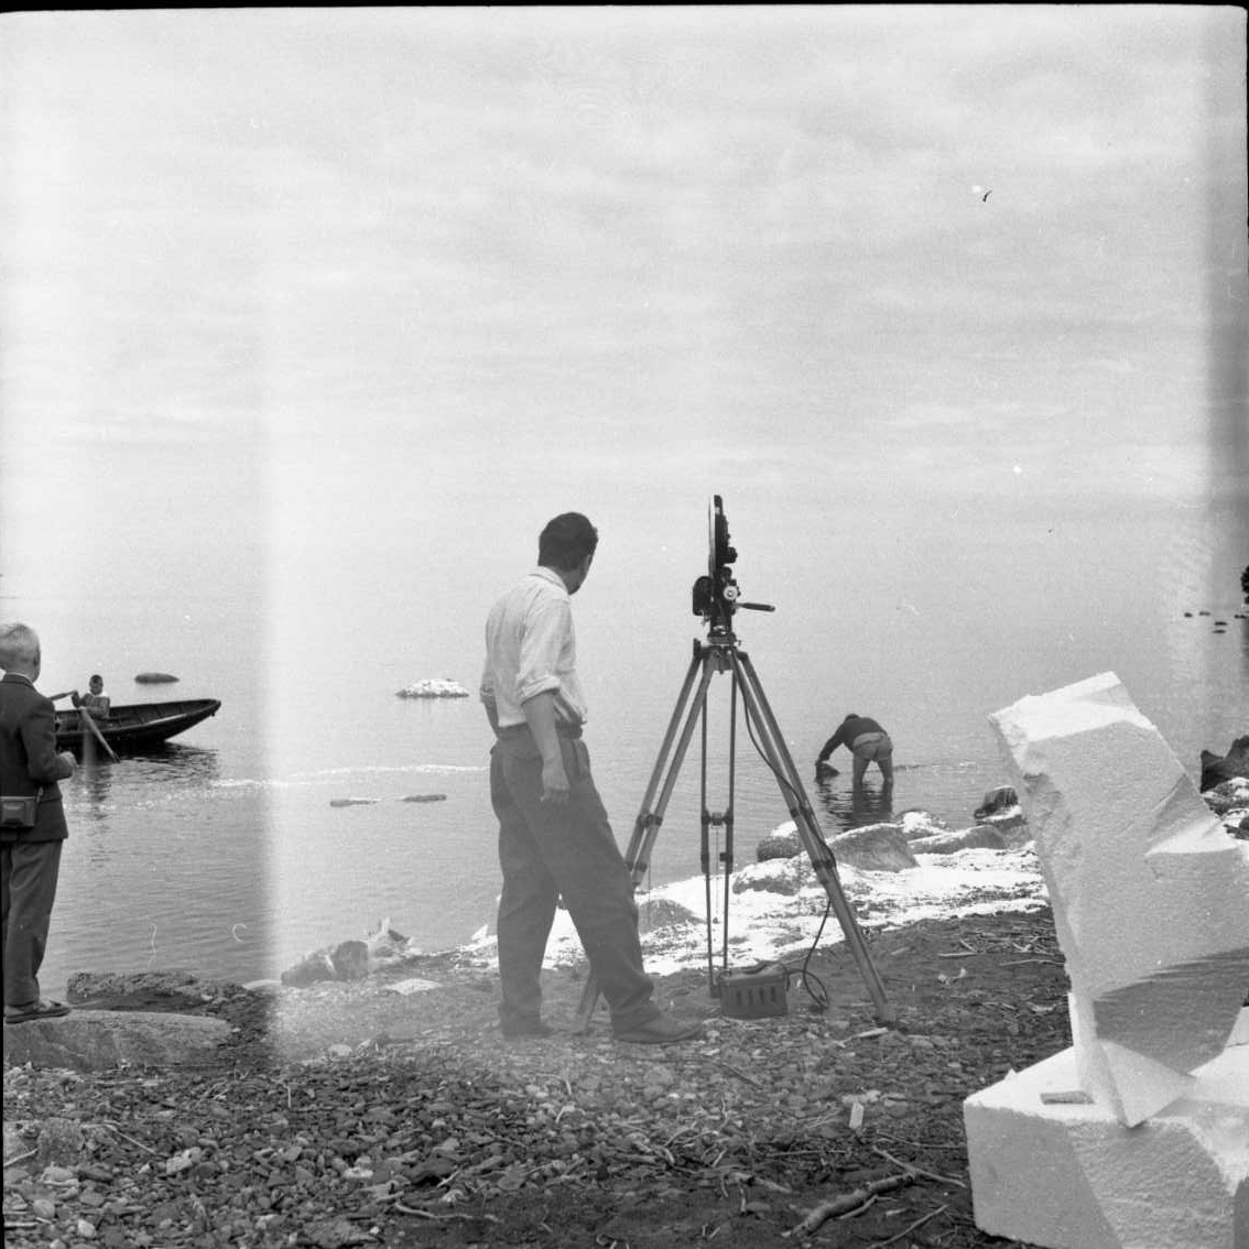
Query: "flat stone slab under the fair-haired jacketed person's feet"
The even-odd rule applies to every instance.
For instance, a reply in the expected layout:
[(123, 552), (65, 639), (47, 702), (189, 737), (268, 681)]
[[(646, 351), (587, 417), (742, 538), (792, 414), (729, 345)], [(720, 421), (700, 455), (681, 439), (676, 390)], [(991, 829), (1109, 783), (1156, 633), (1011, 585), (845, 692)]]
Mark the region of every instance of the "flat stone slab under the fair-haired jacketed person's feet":
[(74, 1010), (60, 1019), (5, 1024), (6, 1065), (104, 1072), (202, 1060), (231, 1033), (211, 1015), (164, 1010)]

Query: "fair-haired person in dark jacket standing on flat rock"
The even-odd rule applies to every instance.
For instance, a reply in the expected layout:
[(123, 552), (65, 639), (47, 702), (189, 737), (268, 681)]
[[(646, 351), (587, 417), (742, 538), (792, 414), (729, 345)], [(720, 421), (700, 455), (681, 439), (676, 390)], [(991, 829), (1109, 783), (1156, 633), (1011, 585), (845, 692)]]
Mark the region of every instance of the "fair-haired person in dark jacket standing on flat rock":
[(6, 1025), (70, 1009), (45, 1000), (39, 990), (61, 846), (69, 837), (57, 782), (74, 774), (74, 756), (56, 752), (52, 701), (35, 688), (41, 662), (32, 628), (0, 624), (0, 962)]

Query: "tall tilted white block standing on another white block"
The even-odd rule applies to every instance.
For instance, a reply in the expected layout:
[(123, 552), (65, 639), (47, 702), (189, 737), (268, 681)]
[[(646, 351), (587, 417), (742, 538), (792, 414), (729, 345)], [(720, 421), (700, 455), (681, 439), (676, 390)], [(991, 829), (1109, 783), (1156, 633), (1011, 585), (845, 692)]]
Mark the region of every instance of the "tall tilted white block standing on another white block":
[(990, 719), (1067, 959), (1080, 1087), (1140, 1123), (1232, 1033), (1249, 988), (1249, 844), (1114, 673)]

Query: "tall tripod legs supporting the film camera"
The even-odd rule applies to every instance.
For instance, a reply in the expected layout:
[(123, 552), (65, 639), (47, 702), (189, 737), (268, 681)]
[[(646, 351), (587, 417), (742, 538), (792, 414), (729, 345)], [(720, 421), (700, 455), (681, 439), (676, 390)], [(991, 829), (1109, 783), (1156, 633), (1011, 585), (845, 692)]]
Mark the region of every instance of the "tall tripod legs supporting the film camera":
[[(753, 607), (754, 605), (742, 603), (739, 606)], [(729, 801), (726, 812), (722, 814), (711, 814), (707, 811), (707, 693), (711, 687), (712, 677), (714, 677), (718, 672), (728, 672), (732, 674), (728, 761)], [(802, 779), (794, 767), (793, 758), (786, 747), (776, 716), (772, 713), (772, 707), (768, 703), (767, 694), (763, 692), (763, 686), (759, 683), (758, 674), (754, 671), (754, 664), (751, 663), (749, 656), (738, 648), (737, 638), (733, 636), (732, 629), (728, 628), (727, 622), (723, 620), (713, 624), (707, 642), (699, 642), (697, 638), (694, 639), (693, 657), (689, 661), (689, 668), (686, 672), (686, 679), (681, 687), (677, 706), (673, 708), (672, 718), (668, 721), (667, 732), (663, 734), (659, 756), (656, 759), (654, 769), (651, 773), (649, 784), (646, 787), (646, 797), (642, 799), (642, 809), (638, 812), (637, 819), (634, 821), (633, 836), (629, 839), (628, 851), (624, 856), (624, 863), (632, 876), (633, 886), (636, 888), (641, 884), (642, 878), (649, 869), (651, 851), (654, 846), (654, 839), (659, 834), (659, 827), (663, 824), (663, 814), (667, 811), (668, 799), (672, 797), (672, 791), (677, 783), (677, 774), (681, 771), (681, 764), (684, 762), (686, 752), (689, 748), (689, 741), (693, 737), (694, 726), (701, 717), (702, 868), (703, 874), (707, 878), (708, 975), (712, 979), (711, 989), (714, 994), (716, 983), (712, 973), (712, 942), (709, 929), (711, 852), (708, 833), (712, 824), (723, 824), (724, 827), (724, 853), (721, 858), (724, 862), (726, 932), (723, 936), (726, 942), (724, 959), (727, 962), (728, 889), (729, 874), (733, 871), (733, 772), (737, 741), (738, 691), (742, 693), (747, 727), (753, 729), (756, 744), (758, 746), (764, 762), (777, 778), (777, 783), (781, 786), (781, 793), (784, 797), (786, 804), (789, 808), (789, 814), (793, 816), (794, 824), (797, 826), (798, 838), (802, 842), (803, 849), (807, 852), (807, 857), (811, 859), (812, 867), (816, 869), (816, 876), (819, 878), (819, 883), (824, 887), (824, 892), (828, 894), (833, 912), (837, 914), (838, 923), (842, 926), (842, 932), (846, 934), (846, 942), (851, 948), (851, 953), (854, 955), (854, 962), (858, 964), (859, 973), (862, 974), (868, 993), (872, 997), (872, 1003), (876, 1007), (876, 1017), (881, 1023), (893, 1023), (896, 1018), (893, 1007), (886, 1000), (884, 987), (881, 983), (881, 978), (877, 974), (876, 968), (872, 965), (872, 959), (868, 954), (863, 933), (859, 931), (854, 913), (851, 911), (849, 903), (846, 901), (846, 894), (842, 892), (841, 881), (837, 877), (837, 863), (833, 858), (833, 852), (826, 844), (823, 834), (819, 831), (819, 826), (816, 822), (811, 802), (803, 789)], [(684, 718), (684, 723), (682, 723), (682, 717)], [(673, 746), (676, 746), (676, 749), (673, 749)], [(590, 1027), (590, 1020), (595, 1013), (597, 1002), (598, 982), (596, 980), (593, 973), (591, 973), (581, 997), (581, 1004), (577, 1008), (576, 1030), (585, 1032)]]

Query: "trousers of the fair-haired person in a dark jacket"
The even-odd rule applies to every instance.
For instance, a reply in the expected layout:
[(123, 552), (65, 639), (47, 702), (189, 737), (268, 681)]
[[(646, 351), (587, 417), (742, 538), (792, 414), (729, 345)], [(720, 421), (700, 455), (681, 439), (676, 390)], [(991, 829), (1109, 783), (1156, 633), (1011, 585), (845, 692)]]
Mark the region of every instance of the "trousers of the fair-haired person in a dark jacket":
[(39, 1000), (39, 968), (56, 901), (64, 842), (0, 842), (5, 1005)]

